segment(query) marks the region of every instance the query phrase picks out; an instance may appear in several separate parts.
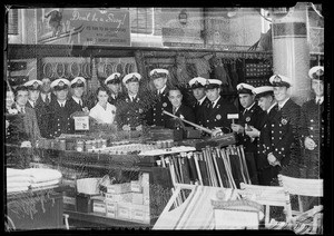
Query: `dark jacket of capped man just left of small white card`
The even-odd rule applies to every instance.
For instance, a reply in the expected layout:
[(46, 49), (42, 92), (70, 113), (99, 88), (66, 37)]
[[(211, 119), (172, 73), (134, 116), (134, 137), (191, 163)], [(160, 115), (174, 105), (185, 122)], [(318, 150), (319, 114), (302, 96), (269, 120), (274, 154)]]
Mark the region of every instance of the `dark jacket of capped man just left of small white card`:
[(230, 132), (232, 120), (227, 119), (227, 114), (237, 114), (237, 108), (223, 97), (219, 98), (214, 108), (210, 106), (209, 102), (205, 109), (203, 126), (208, 129), (220, 128), (225, 134)]

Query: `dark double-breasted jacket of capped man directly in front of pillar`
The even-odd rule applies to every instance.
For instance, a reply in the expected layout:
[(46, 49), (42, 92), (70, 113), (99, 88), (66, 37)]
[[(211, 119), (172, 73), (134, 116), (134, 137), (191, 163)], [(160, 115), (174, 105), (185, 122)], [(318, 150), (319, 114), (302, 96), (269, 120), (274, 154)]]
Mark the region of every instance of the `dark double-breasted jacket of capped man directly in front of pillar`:
[(265, 140), (266, 155), (273, 153), (286, 171), (287, 166), (295, 168), (295, 170), (291, 169), (288, 175), (298, 173), (299, 116), (301, 107), (289, 98), (272, 119), (271, 139)]

